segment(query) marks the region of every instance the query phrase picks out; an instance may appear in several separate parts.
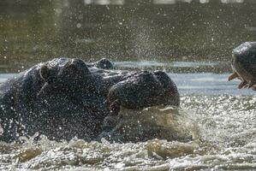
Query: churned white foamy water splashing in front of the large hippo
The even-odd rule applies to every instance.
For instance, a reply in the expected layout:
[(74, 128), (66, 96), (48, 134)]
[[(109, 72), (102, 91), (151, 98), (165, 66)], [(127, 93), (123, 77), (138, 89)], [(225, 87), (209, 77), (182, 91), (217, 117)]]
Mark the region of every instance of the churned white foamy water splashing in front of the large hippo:
[(255, 97), (243, 95), (183, 95), (182, 110), (199, 127), (193, 130), (198, 134), (193, 141), (56, 142), (42, 136), (38, 142), (30, 138), (25, 144), (0, 144), (1, 169), (253, 169), (255, 102)]

